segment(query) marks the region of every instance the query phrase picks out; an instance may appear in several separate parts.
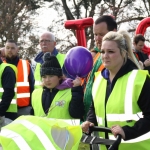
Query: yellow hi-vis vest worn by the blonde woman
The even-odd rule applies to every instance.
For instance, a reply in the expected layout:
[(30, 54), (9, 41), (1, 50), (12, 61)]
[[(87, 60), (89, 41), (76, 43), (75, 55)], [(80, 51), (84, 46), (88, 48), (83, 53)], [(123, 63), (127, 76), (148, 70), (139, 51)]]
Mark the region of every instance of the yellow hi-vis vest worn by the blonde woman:
[[(107, 80), (102, 77), (101, 73), (96, 77), (93, 84), (92, 96), (99, 126), (105, 125), (105, 112), (109, 128), (113, 125), (128, 125), (132, 127), (139, 120), (139, 116), (142, 117), (137, 101), (147, 75), (147, 71), (133, 70), (120, 77), (116, 81), (108, 98), (106, 108)], [(104, 134), (101, 133), (100, 136), (104, 137)], [(109, 138), (112, 139), (114, 136), (111, 134)], [(119, 150), (147, 150), (149, 143), (150, 132), (132, 140), (122, 140)], [(106, 150), (106, 147), (101, 146), (100, 149)]]

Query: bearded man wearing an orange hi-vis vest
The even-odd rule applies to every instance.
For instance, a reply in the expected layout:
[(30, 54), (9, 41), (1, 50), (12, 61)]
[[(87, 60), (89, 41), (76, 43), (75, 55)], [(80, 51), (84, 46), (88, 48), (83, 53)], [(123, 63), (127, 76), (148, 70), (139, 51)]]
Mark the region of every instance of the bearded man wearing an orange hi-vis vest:
[(6, 62), (17, 67), (17, 105), (18, 116), (20, 116), (30, 113), (30, 97), (34, 90), (34, 76), (29, 62), (18, 57), (18, 50), (14, 40), (6, 41)]

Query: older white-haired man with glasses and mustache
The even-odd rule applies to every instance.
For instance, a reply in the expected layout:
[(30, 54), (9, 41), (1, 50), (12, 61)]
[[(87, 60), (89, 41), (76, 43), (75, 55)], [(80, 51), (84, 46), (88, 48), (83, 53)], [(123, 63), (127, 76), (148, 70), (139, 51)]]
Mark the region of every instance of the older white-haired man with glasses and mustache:
[(35, 66), (35, 71), (34, 71), (34, 77), (35, 77), (34, 87), (35, 88), (39, 88), (41, 86), (40, 66), (41, 64), (43, 64), (44, 53), (50, 52), (51, 55), (56, 56), (61, 68), (63, 68), (64, 58), (65, 58), (64, 54), (61, 54), (56, 50), (55, 36), (51, 32), (48, 32), (48, 31), (44, 32), (40, 36), (39, 44), (40, 44), (42, 51), (34, 59), (36, 61), (36, 66)]

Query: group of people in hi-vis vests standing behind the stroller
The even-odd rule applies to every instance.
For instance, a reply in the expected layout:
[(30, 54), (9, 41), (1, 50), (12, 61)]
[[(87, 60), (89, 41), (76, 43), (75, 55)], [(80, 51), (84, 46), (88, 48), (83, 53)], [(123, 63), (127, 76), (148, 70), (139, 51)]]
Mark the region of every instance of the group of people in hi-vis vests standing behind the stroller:
[[(12, 120), (24, 112), (39, 117), (80, 119), (83, 132), (90, 126), (111, 128), (124, 140), (120, 150), (147, 149), (150, 131), (150, 60), (142, 52), (145, 39), (133, 41), (126, 31), (117, 31), (112, 16), (104, 15), (93, 25), (96, 47), (91, 51), (91, 72), (81, 81), (70, 79), (64, 67), (65, 55), (55, 46), (51, 32), (40, 36), (41, 52), (35, 66), (19, 59), (13, 40), (5, 44), (1, 60), (0, 116)], [(34, 69), (33, 69), (34, 68)], [(29, 112), (30, 110), (30, 112)], [(12, 116), (15, 114), (15, 116)], [(109, 139), (110, 134), (100, 134)], [(101, 150), (108, 146), (100, 145)]]

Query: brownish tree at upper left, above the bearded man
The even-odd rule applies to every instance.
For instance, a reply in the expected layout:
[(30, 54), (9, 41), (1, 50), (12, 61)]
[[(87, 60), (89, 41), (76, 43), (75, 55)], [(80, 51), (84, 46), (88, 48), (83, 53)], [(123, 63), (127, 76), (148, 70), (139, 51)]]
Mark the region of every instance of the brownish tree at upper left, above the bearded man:
[[(34, 18), (32, 16), (37, 15), (36, 10), (41, 4), (38, 0), (0, 0), (1, 47), (5, 45), (7, 39), (14, 39), (19, 43), (21, 57), (27, 58), (34, 53), (34, 49), (31, 50), (29, 46), (30, 39), (33, 42), (31, 31), (34, 27), (32, 24)], [(31, 51), (28, 51), (29, 49)]]

